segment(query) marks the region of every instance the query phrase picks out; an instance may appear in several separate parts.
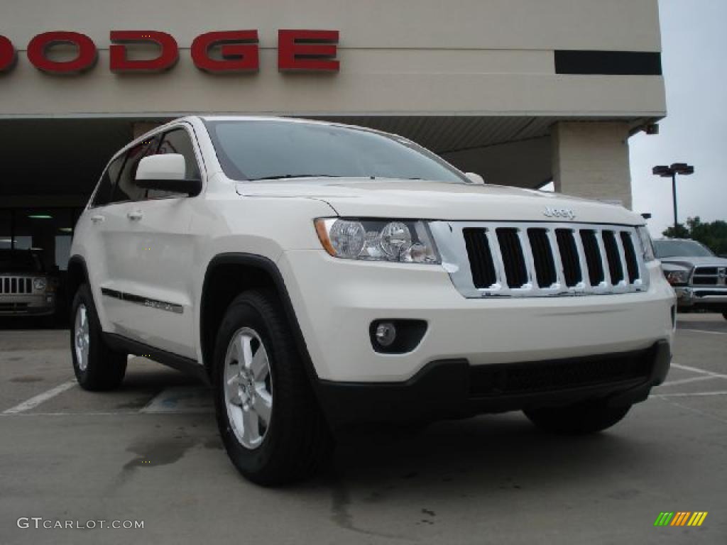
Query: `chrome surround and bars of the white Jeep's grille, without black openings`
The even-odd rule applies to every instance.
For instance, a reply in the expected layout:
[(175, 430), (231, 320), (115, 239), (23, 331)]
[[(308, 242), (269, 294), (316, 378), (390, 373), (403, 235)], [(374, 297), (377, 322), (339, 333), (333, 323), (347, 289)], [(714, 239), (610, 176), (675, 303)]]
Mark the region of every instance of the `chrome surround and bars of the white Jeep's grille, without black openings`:
[[(470, 299), (482, 299), (486, 297), (547, 297), (547, 296), (579, 296), (579, 295), (608, 295), (627, 294), (648, 289), (648, 270), (643, 259), (641, 241), (636, 232), (636, 227), (631, 225), (611, 224), (590, 224), (590, 223), (564, 223), (564, 222), (446, 222), (434, 221), (429, 223), (435, 244), (441, 254), (442, 265), (449, 273), (449, 277), (460, 294)], [(518, 230), (518, 238), (521, 242), (523, 257), (527, 269), (528, 283), (520, 288), (507, 286), (505, 266), (502, 260), (502, 253), (499, 248), (496, 230), (499, 228), (515, 228)], [(490, 246), (492, 260), (494, 262), (495, 278), (494, 284), (487, 288), (477, 288), (472, 278), (472, 269), (467, 255), (467, 246), (462, 230), (466, 228), (484, 229), (487, 241)], [(555, 263), (556, 282), (551, 286), (540, 287), (537, 285), (537, 273), (535, 260), (530, 246), (527, 230), (531, 228), (545, 229), (547, 240), (550, 242), (550, 249), (553, 252)], [(581, 281), (576, 286), (567, 287), (565, 273), (563, 272), (563, 261), (558, 248), (558, 241), (555, 238), (556, 229), (566, 229), (573, 233), (578, 261), (581, 267)], [(595, 231), (595, 239), (598, 243), (598, 250), (601, 253), (601, 266), (603, 267), (603, 282), (598, 286), (591, 286), (588, 274), (585, 250), (581, 239), (581, 230)], [(611, 283), (611, 272), (606, 257), (606, 247), (603, 243), (603, 231), (614, 232), (616, 248), (623, 270), (624, 280)], [(620, 233), (628, 233), (636, 254), (638, 264), (638, 278), (629, 283), (629, 270), (626, 262), (626, 251)]]

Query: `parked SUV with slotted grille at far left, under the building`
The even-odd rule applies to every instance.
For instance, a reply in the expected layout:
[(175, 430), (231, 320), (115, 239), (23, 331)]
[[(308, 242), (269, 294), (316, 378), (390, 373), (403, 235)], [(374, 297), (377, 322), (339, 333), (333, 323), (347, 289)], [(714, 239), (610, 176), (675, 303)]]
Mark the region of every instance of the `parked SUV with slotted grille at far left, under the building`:
[(55, 280), (33, 250), (0, 249), (0, 316), (55, 313)]

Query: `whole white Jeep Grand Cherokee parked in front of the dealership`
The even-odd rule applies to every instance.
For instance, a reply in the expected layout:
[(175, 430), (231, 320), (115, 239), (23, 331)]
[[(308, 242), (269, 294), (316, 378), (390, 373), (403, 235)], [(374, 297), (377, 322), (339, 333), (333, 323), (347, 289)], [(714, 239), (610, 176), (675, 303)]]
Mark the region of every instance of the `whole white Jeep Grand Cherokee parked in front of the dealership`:
[(354, 126), (161, 126), (108, 163), (71, 256), (81, 386), (119, 386), (129, 354), (193, 371), (256, 483), (310, 475), (350, 423), (522, 410), (595, 432), (670, 364), (674, 292), (638, 215)]

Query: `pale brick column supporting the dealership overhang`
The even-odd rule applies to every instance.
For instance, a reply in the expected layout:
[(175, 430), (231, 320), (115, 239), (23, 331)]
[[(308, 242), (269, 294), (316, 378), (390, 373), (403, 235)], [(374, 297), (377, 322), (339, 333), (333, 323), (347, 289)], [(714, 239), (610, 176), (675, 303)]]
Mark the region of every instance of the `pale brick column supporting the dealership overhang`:
[(551, 134), (555, 191), (631, 208), (627, 123), (559, 121)]

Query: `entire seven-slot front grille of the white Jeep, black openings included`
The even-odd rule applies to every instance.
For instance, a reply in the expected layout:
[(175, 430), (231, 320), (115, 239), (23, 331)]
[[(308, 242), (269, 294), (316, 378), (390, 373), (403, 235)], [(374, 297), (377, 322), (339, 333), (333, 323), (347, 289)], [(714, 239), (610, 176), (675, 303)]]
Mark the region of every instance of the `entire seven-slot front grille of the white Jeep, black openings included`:
[(443, 265), (467, 297), (618, 294), (646, 290), (634, 227), (433, 222)]

